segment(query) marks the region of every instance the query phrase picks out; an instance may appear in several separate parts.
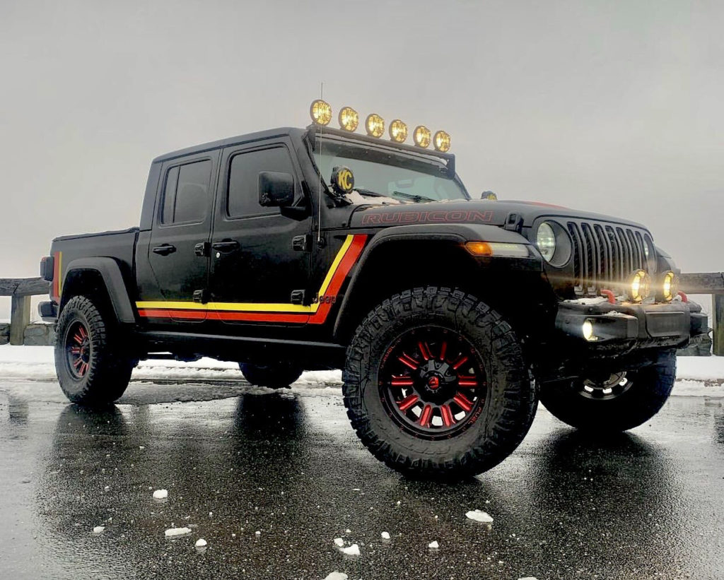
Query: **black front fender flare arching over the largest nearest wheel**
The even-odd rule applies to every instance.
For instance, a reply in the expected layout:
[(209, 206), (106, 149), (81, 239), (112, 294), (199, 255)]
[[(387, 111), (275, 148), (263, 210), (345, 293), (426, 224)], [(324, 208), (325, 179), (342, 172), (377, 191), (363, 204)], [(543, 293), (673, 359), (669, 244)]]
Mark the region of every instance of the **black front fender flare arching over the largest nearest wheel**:
[[(345, 322), (350, 301), (355, 289), (355, 283), (359, 281), (364, 271), (366, 263), (371, 255), (380, 247), (391, 242), (410, 242), (420, 240), (421, 242), (429, 242), (431, 240), (439, 242), (452, 242), (455, 244), (464, 244), (465, 242), (481, 241), (481, 242), (505, 242), (512, 244), (526, 244), (533, 247), (528, 239), (515, 231), (508, 231), (499, 226), (479, 223), (418, 223), (410, 226), (391, 226), (374, 234), (372, 241), (362, 252), (362, 255), (355, 266), (354, 273), (350, 279), (350, 283), (345, 291), (345, 297), (340, 304), (340, 310), (337, 312), (337, 319), (334, 320), (334, 330), (332, 336), (337, 338), (340, 329)], [(536, 252), (537, 253), (537, 252)], [(471, 256), (472, 258), (472, 256)], [(531, 260), (531, 269), (541, 270), (541, 259)]]

